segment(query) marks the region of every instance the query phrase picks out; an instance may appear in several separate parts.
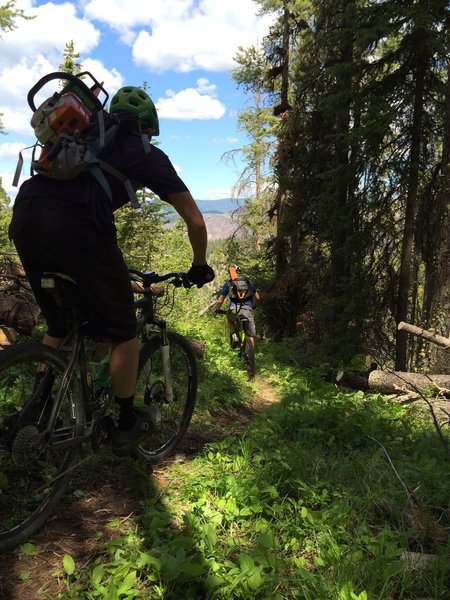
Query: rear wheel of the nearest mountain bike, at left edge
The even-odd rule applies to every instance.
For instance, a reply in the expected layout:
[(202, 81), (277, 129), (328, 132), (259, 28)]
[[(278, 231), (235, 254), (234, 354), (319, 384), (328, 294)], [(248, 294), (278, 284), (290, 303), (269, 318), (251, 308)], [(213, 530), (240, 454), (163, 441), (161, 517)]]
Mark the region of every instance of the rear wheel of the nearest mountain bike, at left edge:
[[(51, 390), (38, 406), (37, 365), (52, 373)], [(64, 369), (63, 357), (43, 344), (17, 344), (0, 352), (0, 550), (30, 539), (69, 483), (79, 448), (71, 440), (84, 424), (77, 381), (65, 387), (55, 426), (45, 433)]]

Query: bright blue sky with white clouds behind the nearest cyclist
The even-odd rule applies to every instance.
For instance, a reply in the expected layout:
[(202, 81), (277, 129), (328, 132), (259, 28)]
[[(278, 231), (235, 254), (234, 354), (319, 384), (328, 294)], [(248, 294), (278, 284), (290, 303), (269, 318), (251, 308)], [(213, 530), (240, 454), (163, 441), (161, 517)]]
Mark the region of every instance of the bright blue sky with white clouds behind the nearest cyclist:
[[(18, 152), (34, 142), (29, 88), (58, 70), (73, 40), (84, 70), (110, 97), (123, 85), (148, 84), (160, 117), (160, 147), (198, 200), (232, 195), (242, 164), (222, 159), (241, 148), (236, 116), (250, 97), (230, 77), (238, 46), (256, 45), (269, 16), (253, 0), (17, 0), (18, 19), (0, 39), (0, 177), (13, 198)], [(45, 88), (45, 96), (54, 90)], [(37, 101), (41, 98), (38, 96)], [(28, 155), (25, 155), (28, 158)], [(22, 180), (29, 174), (26, 160)]]

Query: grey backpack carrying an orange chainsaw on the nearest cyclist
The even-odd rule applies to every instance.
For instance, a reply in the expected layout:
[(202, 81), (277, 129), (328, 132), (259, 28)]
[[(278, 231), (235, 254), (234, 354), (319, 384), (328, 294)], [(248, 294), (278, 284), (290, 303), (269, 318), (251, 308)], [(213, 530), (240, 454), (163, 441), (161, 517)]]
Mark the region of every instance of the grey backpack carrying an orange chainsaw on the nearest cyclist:
[[(82, 77), (89, 77), (93, 81), (91, 87), (84, 83)], [(36, 108), (36, 94), (53, 80), (68, 83)], [(103, 102), (98, 98), (100, 92), (105, 96)], [(58, 71), (42, 77), (27, 96), (33, 111), (31, 126), (38, 140), (31, 146), (33, 153), (30, 174), (71, 180), (80, 173), (89, 171), (112, 202), (111, 189), (104, 173), (106, 171), (123, 183), (132, 206), (139, 208), (131, 181), (115, 167), (98, 158), (98, 154), (114, 141), (121, 128), (120, 120), (109, 115), (104, 108), (108, 97), (102, 84), (88, 71), (77, 76)], [(146, 151), (150, 151), (150, 147)], [(18, 184), (22, 166), (23, 157), (20, 152), (14, 186)]]

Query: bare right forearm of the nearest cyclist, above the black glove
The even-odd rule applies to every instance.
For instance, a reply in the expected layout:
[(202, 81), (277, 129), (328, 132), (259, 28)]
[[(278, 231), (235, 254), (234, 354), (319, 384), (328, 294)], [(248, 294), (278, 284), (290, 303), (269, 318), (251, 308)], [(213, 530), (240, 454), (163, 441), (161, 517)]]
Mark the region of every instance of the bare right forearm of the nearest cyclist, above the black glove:
[(205, 220), (194, 198), (190, 192), (186, 191), (169, 194), (168, 200), (186, 223), (189, 242), (192, 247), (192, 263), (194, 265), (205, 265), (208, 233)]

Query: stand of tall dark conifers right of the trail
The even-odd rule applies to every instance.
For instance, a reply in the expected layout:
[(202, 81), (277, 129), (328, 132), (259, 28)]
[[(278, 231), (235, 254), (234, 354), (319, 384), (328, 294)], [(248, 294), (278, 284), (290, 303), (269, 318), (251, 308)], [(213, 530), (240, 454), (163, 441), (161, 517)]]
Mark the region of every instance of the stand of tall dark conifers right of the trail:
[(396, 311), (420, 319), (424, 294), (436, 293), (439, 239), (438, 256), (448, 250), (431, 233), (446, 227), (435, 193), (448, 188), (448, 174), (436, 177), (448, 162), (448, 3), (257, 3), (273, 26), (258, 48), (239, 50), (232, 75), (254, 103), (240, 117), (250, 144), (238, 189), (257, 182), (263, 140), (271, 157), (266, 220), (251, 201), (241, 223), (253, 232), (270, 216), (272, 228), (239, 248), (253, 243), (267, 276), (264, 320), (273, 339), (307, 324), (309, 345), (320, 340), (335, 364), (367, 346), (389, 356)]

